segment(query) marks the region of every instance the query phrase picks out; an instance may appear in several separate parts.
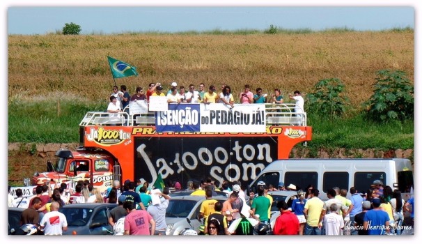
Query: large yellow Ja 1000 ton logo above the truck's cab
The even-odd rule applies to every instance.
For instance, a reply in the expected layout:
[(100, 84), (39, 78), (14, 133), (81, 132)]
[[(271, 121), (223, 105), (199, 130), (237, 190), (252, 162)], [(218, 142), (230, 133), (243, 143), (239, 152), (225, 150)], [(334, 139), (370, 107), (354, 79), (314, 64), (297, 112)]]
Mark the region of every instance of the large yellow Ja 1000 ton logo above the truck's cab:
[(123, 130), (104, 130), (102, 127), (98, 128), (98, 130), (91, 128), (89, 134), (86, 135), (86, 139), (91, 142), (97, 142), (97, 144), (102, 146), (111, 146), (130, 139), (130, 133)]

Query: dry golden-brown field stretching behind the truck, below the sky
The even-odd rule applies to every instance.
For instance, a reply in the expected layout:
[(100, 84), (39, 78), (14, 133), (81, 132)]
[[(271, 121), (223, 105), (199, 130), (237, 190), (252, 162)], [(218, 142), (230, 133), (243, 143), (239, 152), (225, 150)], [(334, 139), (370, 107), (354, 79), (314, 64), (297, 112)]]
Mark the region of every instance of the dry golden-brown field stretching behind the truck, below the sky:
[(168, 89), (175, 80), (179, 86), (228, 84), (235, 96), (244, 84), (268, 93), (279, 88), (286, 96), (336, 77), (359, 107), (372, 94), (377, 70), (403, 70), (414, 80), (413, 31), (8, 36), (9, 99), (107, 102), (114, 85), (107, 55), (139, 71), (116, 79), (131, 94), (150, 82)]

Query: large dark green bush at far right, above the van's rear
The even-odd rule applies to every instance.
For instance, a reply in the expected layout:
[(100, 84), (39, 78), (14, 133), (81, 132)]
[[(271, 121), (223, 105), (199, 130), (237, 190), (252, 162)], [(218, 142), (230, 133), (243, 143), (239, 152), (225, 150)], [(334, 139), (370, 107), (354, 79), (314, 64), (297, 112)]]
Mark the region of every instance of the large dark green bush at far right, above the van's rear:
[(400, 70), (380, 70), (374, 93), (363, 103), (368, 119), (389, 121), (414, 118), (414, 88)]

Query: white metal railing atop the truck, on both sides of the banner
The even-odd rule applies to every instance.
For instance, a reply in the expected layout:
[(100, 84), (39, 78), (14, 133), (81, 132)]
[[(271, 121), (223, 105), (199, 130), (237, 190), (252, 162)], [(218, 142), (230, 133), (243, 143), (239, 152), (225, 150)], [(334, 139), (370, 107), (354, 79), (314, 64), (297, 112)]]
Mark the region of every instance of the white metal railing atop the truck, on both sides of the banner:
[[(266, 125), (306, 126), (306, 112), (295, 112), (295, 109), (294, 103), (266, 103)], [(88, 125), (155, 125), (155, 112), (132, 114), (130, 113), (130, 105), (127, 105), (123, 112), (119, 113), (87, 112), (79, 126)]]

